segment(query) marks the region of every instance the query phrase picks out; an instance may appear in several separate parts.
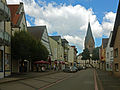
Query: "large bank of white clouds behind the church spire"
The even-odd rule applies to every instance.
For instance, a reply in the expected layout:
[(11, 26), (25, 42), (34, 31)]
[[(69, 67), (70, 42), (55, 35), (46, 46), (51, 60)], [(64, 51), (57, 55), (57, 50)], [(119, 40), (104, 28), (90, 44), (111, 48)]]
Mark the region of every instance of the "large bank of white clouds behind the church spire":
[[(20, 1), (20, 0), (7, 0)], [(83, 49), (84, 38), (88, 26), (88, 17), (90, 16), (91, 28), (95, 38), (101, 38), (102, 35), (109, 35), (113, 28), (115, 13), (105, 13), (102, 25), (96, 18), (96, 15), (91, 10), (87, 10), (81, 5), (66, 6), (58, 5), (56, 3), (41, 2), (40, 7), (34, 0), (22, 0), (24, 2), (25, 13), (35, 18), (35, 25), (47, 25), (48, 32), (58, 32), (70, 44), (75, 44), (79, 50)], [(28, 23), (29, 25), (29, 23)]]

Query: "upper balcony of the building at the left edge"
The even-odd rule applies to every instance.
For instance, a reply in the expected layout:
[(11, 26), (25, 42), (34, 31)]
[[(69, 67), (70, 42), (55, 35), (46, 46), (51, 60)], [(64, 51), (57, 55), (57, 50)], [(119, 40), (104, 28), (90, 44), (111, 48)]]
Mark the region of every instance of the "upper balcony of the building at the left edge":
[(10, 20), (10, 16), (9, 8), (0, 0), (0, 21)]

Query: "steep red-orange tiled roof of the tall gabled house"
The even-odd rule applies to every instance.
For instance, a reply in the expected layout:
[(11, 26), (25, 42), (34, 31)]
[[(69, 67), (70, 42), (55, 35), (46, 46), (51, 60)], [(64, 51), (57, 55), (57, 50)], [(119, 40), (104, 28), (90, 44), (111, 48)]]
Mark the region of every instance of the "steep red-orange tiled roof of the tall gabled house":
[(13, 23), (13, 25), (16, 25), (17, 24), (17, 21), (20, 17), (20, 14), (16, 14), (18, 8), (19, 8), (19, 4), (17, 5), (8, 5), (8, 8), (10, 9), (10, 12), (11, 12), (11, 21)]

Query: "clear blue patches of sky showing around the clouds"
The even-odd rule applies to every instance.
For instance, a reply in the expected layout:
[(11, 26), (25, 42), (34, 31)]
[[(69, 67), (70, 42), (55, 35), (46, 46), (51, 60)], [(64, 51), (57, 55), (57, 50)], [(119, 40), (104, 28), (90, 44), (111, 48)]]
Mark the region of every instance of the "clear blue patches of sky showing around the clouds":
[[(92, 8), (92, 10), (94, 11), (94, 14), (97, 17), (97, 20), (101, 24), (105, 13), (107, 13), (107, 12), (116, 13), (119, 0), (41, 0), (41, 1), (45, 2), (45, 4), (47, 4), (47, 5), (49, 3), (55, 2), (57, 5), (54, 5), (54, 7), (57, 7), (58, 5), (61, 5), (61, 4), (65, 4), (66, 6), (69, 6), (71, 4), (72, 6), (81, 5), (81, 6), (85, 7), (86, 9)], [(35, 2), (38, 3), (39, 6), (43, 7), (41, 3), (39, 4), (38, 0), (35, 0)], [(27, 16), (27, 20), (29, 21), (30, 16), (28, 16), (28, 15), (26, 15), (26, 16)], [(34, 18), (33, 18), (33, 21), (34, 21)], [(34, 23), (30, 23), (30, 24), (34, 25)], [(91, 27), (92, 27), (92, 25), (91, 25)], [(59, 35), (59, 33), (53, 32), (52, 34), (49, 34), (49, 35)], [(108, 36), (103, 35), (102, 37), (106, 38)], [(101, 37), (95, 38), (96, 46), (100, 46), (101, 42), (102, 42)], [(74, 45), (74, 44), (72, 44), (72, 45)], [(81, 51), (82, 50), (79, 49), (79, 52), (81, 52)]]

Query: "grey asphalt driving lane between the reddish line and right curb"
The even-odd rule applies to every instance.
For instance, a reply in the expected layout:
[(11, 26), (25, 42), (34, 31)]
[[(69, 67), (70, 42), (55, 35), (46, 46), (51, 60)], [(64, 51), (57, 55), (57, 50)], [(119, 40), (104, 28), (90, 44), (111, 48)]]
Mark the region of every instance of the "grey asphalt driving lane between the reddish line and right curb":
[(94, 71), (82, 70), (45, 90), (95, 90)]

